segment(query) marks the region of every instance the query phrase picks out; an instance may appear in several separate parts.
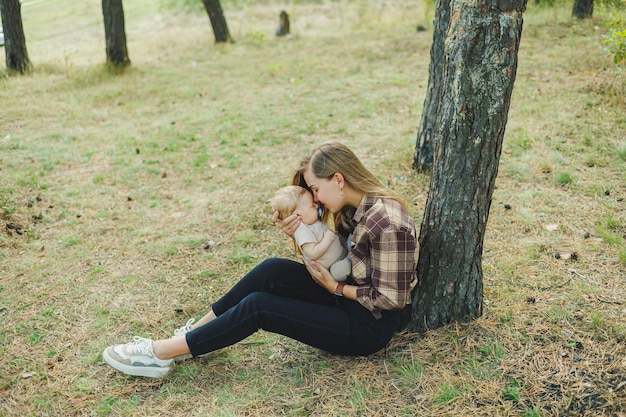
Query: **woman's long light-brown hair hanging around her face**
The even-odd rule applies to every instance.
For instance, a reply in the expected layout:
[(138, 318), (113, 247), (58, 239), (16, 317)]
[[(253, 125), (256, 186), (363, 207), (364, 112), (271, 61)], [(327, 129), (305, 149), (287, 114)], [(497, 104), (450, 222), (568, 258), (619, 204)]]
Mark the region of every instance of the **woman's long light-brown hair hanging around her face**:
[[(338, 142), (324, 143), (313, 149), (311, 153), (300, 161), (300, 166), (294, 174), (292, 183), (310, 190), (304, 180), (304, 172), (311, 167), (311, 172), (318, 178), (331, 179), (335, 173), (343, 175), (344, 180), (356, 191), (368, 197), (389, 198), (396, 200), (405, 209), (406, 204), (395, 192), (391, 191), (357, 158), (347, 146)], [(355, 207), (356, 208), (356, 207)], [(344, 208), (335, 213), (333, 218), (335, 227), (345, 225), (346, 217), (351, 217), (354, 209)], [(328, 217), (324, 213), (323, 217)]]

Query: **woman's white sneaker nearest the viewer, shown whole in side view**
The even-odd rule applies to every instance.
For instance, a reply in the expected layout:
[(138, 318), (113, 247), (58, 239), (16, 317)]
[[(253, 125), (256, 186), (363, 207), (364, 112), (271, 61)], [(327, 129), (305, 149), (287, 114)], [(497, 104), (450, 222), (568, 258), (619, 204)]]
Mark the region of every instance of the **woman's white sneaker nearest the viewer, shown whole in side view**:
[(173, 359), (159, 359), (152, 350), (152, 339), (135, 336), (135, 341), (109, 346), (102, 359), (127, 375), (163, 378), (172, 369)]

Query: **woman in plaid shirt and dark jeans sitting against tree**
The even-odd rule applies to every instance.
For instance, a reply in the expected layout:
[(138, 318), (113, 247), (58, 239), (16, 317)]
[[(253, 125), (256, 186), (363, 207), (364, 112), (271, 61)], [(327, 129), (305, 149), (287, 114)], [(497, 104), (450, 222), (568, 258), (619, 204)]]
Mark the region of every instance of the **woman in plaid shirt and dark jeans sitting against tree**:
[[(196, 324), (169, 339), (106, 348), (106, 363), (128, 375), (160, 378), (175, 358), (198, 357), (233, 345), (259, 329), (340, 355), (369, 355), (398, 331), (417, 283), (413, 219), (346, 146), (327, 143), (305, 158), (293, 183), (332, 213), (337, 233), (351, 242), (352, 274), (338, 283), (318, 262), (271, 258), (244, 276)], [(293, 236), (297, 214), (273, 220)]]

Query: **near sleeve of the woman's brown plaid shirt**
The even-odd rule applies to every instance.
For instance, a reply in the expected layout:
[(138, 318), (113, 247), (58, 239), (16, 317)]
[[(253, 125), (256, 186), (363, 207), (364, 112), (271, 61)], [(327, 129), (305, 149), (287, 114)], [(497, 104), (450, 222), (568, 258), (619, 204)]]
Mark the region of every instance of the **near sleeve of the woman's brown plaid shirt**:
[(401, 310), (415, 285), (417, 240), (406, 229), (384, 230), (370, 247), (371, 284), (357, 288), (357, 300), (371, 311)]

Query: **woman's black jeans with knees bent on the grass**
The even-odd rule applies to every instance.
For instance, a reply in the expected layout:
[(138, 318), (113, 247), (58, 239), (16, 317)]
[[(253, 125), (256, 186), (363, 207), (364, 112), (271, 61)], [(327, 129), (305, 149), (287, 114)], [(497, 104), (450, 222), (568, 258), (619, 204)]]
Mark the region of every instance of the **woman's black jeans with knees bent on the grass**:
[(341, 355), (369, 355), (398, 330), (401, 311), (380, 319), (356, 301), (335, 297), (313, 281), (305, 266), (268, 259), (213, 304), (217, 316), (187, 333), (193, 356), (233, 345), (259, 329)]

